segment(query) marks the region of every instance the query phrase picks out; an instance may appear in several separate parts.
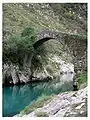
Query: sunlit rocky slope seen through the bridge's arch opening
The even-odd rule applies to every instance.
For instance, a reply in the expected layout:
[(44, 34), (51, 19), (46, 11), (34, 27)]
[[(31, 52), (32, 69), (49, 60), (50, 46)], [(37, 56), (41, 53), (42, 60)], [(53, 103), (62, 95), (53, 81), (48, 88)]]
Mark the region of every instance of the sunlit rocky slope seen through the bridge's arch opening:
[(36, 50), (32, 60), (33, 76), (38, 79), (53, 79), (67, 73), (74, 73), (73, 57), (68, 47), (57, 40), (44, 42)]

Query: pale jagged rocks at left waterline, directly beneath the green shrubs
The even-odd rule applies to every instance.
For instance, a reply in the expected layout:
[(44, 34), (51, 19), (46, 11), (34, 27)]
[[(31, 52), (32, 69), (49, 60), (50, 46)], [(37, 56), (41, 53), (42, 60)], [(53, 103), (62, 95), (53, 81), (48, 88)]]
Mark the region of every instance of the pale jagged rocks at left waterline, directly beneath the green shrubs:
[[(29, 72), (30, 74), (30, 72)], [(12, 85), (29, 82), (29, 75), (21, 71), (18, 65), (4, 64), (3, 66), (3, 84)]]

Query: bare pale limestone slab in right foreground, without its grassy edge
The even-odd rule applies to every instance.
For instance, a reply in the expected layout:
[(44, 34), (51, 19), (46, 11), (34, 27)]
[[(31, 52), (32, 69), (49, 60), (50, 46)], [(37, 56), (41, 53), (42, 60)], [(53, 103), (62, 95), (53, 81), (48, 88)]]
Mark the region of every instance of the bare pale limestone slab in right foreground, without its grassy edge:
[(37, 111), (47, 113), (49, 117), (86, 117), (87, 88), (77, 92), (72, 91), (58, 94), (51, 102), (42, 108), (37, 108), (26, 116), (35, 117)]

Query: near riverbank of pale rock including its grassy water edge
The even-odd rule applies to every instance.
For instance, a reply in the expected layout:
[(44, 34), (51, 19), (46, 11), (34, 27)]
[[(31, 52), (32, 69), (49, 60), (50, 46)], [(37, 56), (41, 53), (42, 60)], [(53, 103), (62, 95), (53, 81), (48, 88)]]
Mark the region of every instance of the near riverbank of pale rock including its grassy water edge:
[(87, 117), (87, 87), (49, 96), (42, 102), (42, 106), (34, 104), (15, 117)]

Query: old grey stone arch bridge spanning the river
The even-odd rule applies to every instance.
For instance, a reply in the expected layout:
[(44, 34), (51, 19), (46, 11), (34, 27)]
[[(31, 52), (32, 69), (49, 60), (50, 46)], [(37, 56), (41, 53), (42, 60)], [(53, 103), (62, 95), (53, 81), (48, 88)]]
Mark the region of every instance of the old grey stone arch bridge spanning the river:
[(44, 42), (54, 39), (66, 44), (73, 56), (74, 71), (87, 71), (87, 37), (84, 35), (67, 34), (62, 32), (43, 30), (37, 34), (34, 49)]

